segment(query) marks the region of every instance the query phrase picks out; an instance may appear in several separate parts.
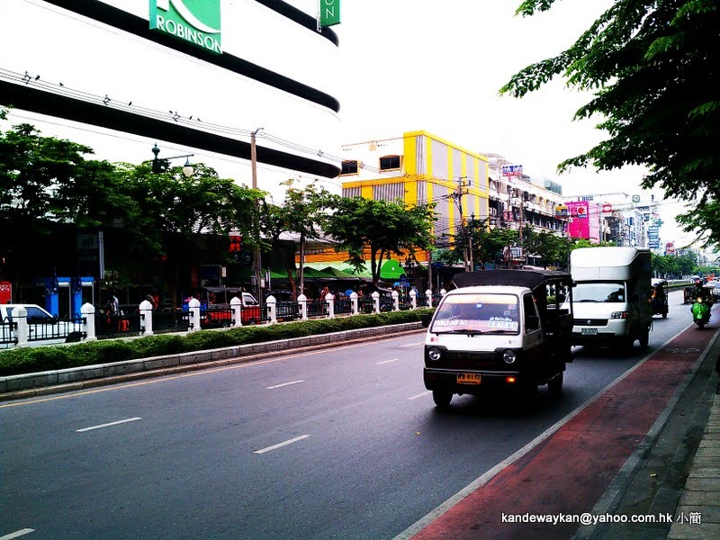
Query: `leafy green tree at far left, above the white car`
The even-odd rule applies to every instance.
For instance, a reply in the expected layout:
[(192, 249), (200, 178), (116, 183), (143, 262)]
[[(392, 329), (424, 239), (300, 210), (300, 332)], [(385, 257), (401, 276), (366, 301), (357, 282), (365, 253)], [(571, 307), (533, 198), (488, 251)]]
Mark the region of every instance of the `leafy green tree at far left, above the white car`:
[[(78, 229), (96, 229), (127, 211), (116, 197), (114, 166), (85, 158), (92, 154), (70, 140), (43, 137), (27, 123), (0, 132), (0, 260), (8, 274), (54, 272), (59, 242), (49, 238), (59, 228), (74, 222)], [(43, 247), (46, 264), (37, 267)]]

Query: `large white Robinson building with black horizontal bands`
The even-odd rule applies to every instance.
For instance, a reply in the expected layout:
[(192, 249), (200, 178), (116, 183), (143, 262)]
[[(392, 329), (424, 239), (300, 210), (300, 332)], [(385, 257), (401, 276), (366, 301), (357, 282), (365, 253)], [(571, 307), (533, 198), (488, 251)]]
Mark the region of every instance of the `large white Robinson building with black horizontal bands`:
[[(337, 157), (317, 149), (337, 148), (339, 128), (337, 75), (327, 67), (339, 40), (318, 28), (317, 3), (4, 0), (0, 18), (5, 43), (22, 44), (0, 57), (9, 125), (32, 123), (108, 161), (149, 161), (157, 143), (160, 159), (188, 157), (271, 193), (288, 177), (338, 176)], [(282, 42), (283, 53), (269, 42)], [(127, 242), (113, 233), (95, 233), (87, 257), (103, 261), (88, 272), (103, 279), (121, 270), (135, 280)], [(38, 260), (73, 275), (78, 245), (54, 239)], [(197, 265), (217, 262), (202, 257), (178, 270), (191, 286), (199, 284)]]

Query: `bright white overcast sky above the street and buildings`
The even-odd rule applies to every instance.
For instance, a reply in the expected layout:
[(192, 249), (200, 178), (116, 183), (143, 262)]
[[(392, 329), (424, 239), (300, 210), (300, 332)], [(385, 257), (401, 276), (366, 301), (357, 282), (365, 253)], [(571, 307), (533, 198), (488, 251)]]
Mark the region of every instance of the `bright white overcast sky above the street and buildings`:
[[(118, 4), (117, 0), (107, 1)], [(255, 4), (251, 0), (225, 1), (229, 7), (243, 2)], [(311, 14), (317, 12), (319, 4), (319, 0), (288, 1)], [(42, 5), (39, 0), (3, 0), (2, 4), (5, 9), (13, 5)], [(144, 10), (148, 2), (129, 0), (126, 5), (130, 4), (141, 5)], [(567, 196), (641, 193), (639, 184), (644, 170), (640, 167), (600, 174), (583, 169), (565, 175), (555, 172), (563, 159), (590, 149), (603, 138), (603, 133), (594, 129), (597, 119), (572, 121), (573, 113), (587, 103), (589, 95), (566, 89), (562, 80), (522, 99), (500, 97), (498, 93), (522, 67), (553, 57), (572, 45), (612, 2), (558, 0), (549, 13), (529, 18), (514, 15), (518, 4), (519, 0), (341, 0), (342, 23), (333, 27), (340, 40), (337, 59), (333, 60), (337, 65), (323, 66), (331, 74), (331, 87), (327, 90), (340, 102), (338, 141), (336, 148), (323, 149), (339, 155), (342, 144), (399, 137), (409, 130), (428, 130), (473, 151), (499, 153), (522, 165), (527, 175), (559, 182)], [(57, 23), (57, 15), (48, 20)], [(43, 21), (34, 23), (37, 31), (37, 25)], [(276, 55), (287, 54), (288, 48), (294, 46), (283, 40), (253, 43)], [(27, 46), (45, 44), (33, 40)], [(243, 58), (241, 50), (232, 52)], [(106, 62), (108, 58), (95, 58), (92, 48), (87, 49), (86, 55), (78, 58), (87, 66), (86, 80), (74, 80), (72, 84), (89, 90), (96, 84), (93, 63)], [(0, 59), (4, 56), (0, 55)], [(142, 65), (145, 58), (139, 56), (135, 61)], [(323, 62), (323, 58), (318, 62)], [(0, 62), (0, 67), (6, 67), (6, 62)], [(302, 74), (288, 75), (302, 80)], [(24, 114), (23, 118), (15, 115), (12, 121), (35, 118), (31, 114)], [(217, 120), (221, 121), (220, 113)], [(59, 121), (63, 123), (67, 124)], [(93, 141), (90, 146), (99, 158), (140, 161), (151, 157), (149, 148), (145, 148), (147, 140), (105, 137), (101, 135), (104, 130), (95, 128), (66, 130), (58, 121), (39, 123), (39, 127), (44, 135), (57, 134), (84, 143), (90, 135)], [(305, 142), (296, 140), (295, 134), (274, 134)], [(166, 151), (173, 152), (175, 148)], [(218, 168), (220, 174), (229, 163), (218, 156), (203, 156), (202, 160)], [(272, 172), (269, 168), (261, 169), (258, 185), (262, 189), (275, 189)], [(263, 183), (264, 175), (267, 184)], [(326, 180), (324, 184), (339, 191), (338, 179)], [(661, 192), (654, 193), (656, 199), (662, 198)], [(644, 194), (644, 199), (647, 198)], [(685, 238), (672, 219), (682, 206), (666, 202), (661, 208), (666, 222), (661, 229), (662, 242), (682, 243)]]

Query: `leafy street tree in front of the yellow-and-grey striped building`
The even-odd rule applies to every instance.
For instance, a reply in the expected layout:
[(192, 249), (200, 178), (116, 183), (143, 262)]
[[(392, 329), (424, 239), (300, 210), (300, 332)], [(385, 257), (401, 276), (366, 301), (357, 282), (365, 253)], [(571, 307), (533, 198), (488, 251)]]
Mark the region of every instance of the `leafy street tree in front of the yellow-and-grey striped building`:
[(338, 242), (335, 250), (347, 252), (347, 263), (356, 270), (369, 260), (377, 285), (383, 260), (406, 254), (416, 259), (419, 249), (432, 247), (434, 208), (434, 204), (406, 207), (403, 202), (335, 197), (326, 232)]

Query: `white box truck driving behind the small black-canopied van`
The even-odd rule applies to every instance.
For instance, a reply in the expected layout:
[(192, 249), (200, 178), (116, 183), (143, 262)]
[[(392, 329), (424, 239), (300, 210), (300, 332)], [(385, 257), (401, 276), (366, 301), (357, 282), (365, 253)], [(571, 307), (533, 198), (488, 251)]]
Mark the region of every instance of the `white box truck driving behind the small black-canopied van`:
[(572, 344), (647, 347), (653, 326), (650, 251), (581, 247), (570, 254)]

